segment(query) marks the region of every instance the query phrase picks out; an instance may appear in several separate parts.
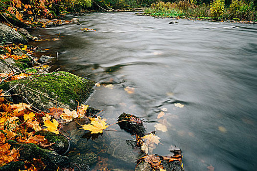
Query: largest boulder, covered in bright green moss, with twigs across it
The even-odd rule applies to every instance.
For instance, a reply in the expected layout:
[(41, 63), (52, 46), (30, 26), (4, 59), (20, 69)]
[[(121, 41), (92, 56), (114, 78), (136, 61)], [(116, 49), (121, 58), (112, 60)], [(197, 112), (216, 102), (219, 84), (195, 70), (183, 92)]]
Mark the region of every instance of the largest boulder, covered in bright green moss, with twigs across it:
[[(16, 86), (10, 90), (11, 94), (21, 93), (34, 107), (48, 112), (47, 108), (50, 107), (76, 109), (78, 102), (82, 104), (89, 98), (95, 82), (69, 72), (52, 72), (10, 81), (0, 85), (0, 89), (7, 91), (17, 84), (24, 86)], [(26, 102), (21, 95), (13, 96), (13, 101), (14, 103)]]

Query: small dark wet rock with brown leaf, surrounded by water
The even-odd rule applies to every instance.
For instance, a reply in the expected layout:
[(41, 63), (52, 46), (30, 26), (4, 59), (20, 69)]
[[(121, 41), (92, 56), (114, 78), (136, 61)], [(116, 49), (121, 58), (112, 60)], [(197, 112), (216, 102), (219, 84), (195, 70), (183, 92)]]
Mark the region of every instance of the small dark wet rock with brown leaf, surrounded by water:
[[(125, 120), (125, 121), (123, 121)], [(128, 121), (126, 121), (128, 120)], [(118, 117), (118, 125), (121, 129), (124, 129), (125, 131), (132, 133), (132, 134), (137, 134), (139, 136), (144, 136), (145, 134), (145, 128), (143, 126), (142, 120), (132, 114), (128, 114), (123, 112), (119, 117)], [(123, 122), (120, 122), (123, 121)]]

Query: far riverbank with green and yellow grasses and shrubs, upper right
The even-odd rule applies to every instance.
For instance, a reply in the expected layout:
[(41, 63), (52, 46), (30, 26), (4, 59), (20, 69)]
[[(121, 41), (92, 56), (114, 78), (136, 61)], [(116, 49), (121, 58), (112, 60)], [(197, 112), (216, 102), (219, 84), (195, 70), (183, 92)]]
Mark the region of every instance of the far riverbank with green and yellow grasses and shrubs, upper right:
[(252, 4), (247, 4), (240, 0), (233, 0), (228, 7), (225, 7), (225, 3), (219, 0), (210, 4), (203, 3), (199, 5), (187, 1), (174, 3), (159, 1), (158, 3), (153, 3), (151, 7), (146, 8), (142, 15), (251, 24), (257, 22), (257, 11), (255, 7)]

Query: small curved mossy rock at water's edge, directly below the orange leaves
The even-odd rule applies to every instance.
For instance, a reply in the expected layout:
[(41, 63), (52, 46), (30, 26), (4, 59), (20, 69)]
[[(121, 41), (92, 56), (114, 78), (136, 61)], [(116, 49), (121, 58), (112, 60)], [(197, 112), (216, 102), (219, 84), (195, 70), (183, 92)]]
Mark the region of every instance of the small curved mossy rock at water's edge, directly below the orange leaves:
[(70, 148), (69, 140), (61, 134), (56, 134), (46, 130), (40, 130), (40, 131), (37, 131), (35, 135), (45, 136), (45, 138), (49, 143), (55, 143), (51, 146), (51, 148), (58, 154), (63, 155)]

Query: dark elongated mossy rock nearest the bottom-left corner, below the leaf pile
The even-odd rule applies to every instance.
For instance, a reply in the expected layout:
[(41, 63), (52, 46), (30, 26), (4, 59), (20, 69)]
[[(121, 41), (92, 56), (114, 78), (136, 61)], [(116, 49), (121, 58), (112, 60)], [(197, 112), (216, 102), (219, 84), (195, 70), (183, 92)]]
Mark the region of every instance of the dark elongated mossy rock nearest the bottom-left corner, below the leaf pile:
[(44, 171), (54, 171), (59, 167), (66, 167), (69, 164), (67, 156), (59, 155), (55, 151), (41, 149), (33, 143), (21, 144), (15, 141), (9, 141), (8, 143), (11, 145), (11, 148), (19, 149), (22, 147), (19, 149), (19, 159), (25, 161), (33, 161), (34, 158), (41, 159), (46, 165)]

